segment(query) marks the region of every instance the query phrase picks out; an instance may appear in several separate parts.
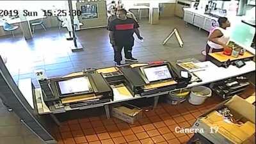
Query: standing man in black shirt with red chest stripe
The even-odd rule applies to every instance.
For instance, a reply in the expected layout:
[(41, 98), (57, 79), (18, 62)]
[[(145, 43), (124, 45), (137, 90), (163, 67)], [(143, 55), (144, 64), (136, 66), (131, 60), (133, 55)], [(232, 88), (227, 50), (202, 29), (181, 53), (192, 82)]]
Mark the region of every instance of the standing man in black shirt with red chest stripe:
[(116, 66), (121, 66), (122, 49), (126, 61), (138, 62), (138, 59), (132, 57), (132, 47), (134, 45), (134, 32), (140, 40), (139, 25), (136, 20), (126, 17), (126, 10), (118, 9), (116, 12), (117, 19), (111, 20), (109, 23), (109, 38), (115, 52), (114, 61)]

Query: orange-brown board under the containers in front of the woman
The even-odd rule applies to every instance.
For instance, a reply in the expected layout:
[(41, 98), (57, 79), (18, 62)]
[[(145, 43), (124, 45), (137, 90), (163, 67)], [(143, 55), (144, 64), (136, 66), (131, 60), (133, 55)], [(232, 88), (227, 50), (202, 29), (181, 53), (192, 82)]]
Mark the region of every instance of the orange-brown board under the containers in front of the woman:
[(234, 61), (234, 60), (241, 60), (244, 58), (252, 58), (254, 55), (251, 54), (250, 52), (246, 51), (244, 52), (244, 55), (241, 56), (239, 55), (237, 58), (233, 57), (233, 56), (227, 56), (225, 54), (223, 54), (223, 52), (213, 52), (210, 53), (209, 56), (211, 56), (212, 58), (215, 58), (216, 60), (220, 61), (220, 62), (225, 62), (228, 61), (228, 59), (230, 59), (230, 61)]

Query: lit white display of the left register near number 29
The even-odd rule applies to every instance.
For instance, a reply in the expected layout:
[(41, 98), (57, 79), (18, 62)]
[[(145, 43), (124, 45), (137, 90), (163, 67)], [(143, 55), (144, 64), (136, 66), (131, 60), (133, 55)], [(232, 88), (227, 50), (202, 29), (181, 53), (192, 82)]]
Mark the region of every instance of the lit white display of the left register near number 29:
[(65, 81), (58, 81), (61, 95), (68, 93), (88, 92), (89, 84), (87, 77), (76, 77)]

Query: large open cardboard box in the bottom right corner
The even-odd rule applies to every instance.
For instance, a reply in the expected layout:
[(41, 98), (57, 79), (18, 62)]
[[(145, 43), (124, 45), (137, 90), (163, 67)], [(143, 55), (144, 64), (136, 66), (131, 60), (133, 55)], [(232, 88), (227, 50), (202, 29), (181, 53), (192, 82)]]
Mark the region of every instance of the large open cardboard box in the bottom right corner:
[[(222, 102), (200, 116), (193, 125), (193, 129), (204, 129), (204, 132), (198, 132), (212, 143), (247, 143), (246, 141), (255, 133), (255, 106), (251, 102), (235, 95), (232, 99)], [(216, 111), (223, 107), (230, 109), (234, 118), (241, 120), (244, 124), (238, 125), (225, 121), (223, 116)], [(216, 131), (217, 129), (218, 131)]]

